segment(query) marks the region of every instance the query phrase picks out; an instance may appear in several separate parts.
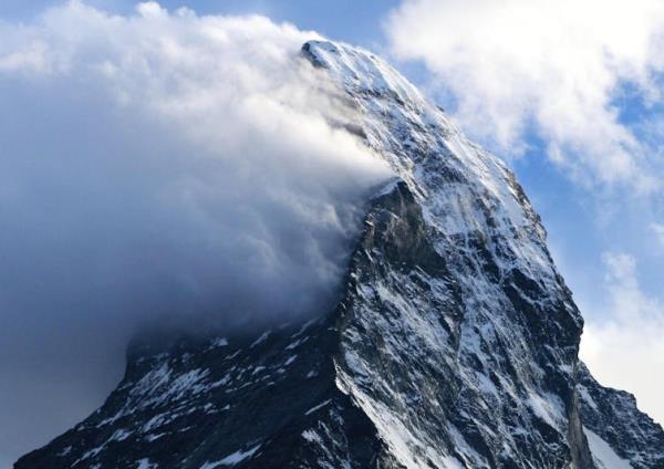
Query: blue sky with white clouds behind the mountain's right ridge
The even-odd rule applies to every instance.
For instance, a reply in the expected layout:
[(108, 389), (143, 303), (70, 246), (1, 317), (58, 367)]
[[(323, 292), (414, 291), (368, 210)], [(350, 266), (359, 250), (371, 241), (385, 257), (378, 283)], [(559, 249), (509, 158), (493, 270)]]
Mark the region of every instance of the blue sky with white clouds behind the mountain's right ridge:
[[(127, 15), (136, 2), (85, 3)], [(657, 0), (611, 8), (566, 0), (544, 14), (546, 2), (526, 0), (159, 3), (198, 14), (262, 14), (387, 58), (515, 169), (587, 317), (591, 369), (604, 384), (634, 392), (664, 420), (664, 378), (653, 377), (664, 366), (664, 11)], [(58, 4), (4, 0), (0, 20), (29, 23)]]

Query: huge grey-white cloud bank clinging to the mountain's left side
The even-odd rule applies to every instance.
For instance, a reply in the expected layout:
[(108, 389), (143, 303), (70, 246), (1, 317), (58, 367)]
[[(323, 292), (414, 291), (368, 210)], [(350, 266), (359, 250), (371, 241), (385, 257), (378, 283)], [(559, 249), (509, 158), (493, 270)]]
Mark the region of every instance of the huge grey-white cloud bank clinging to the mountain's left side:
[(143, 321), (333, 305), (388, 169), (333, 124), (315, 37), (154, 2), (0, 23), (0, 456), (97, 405)]

